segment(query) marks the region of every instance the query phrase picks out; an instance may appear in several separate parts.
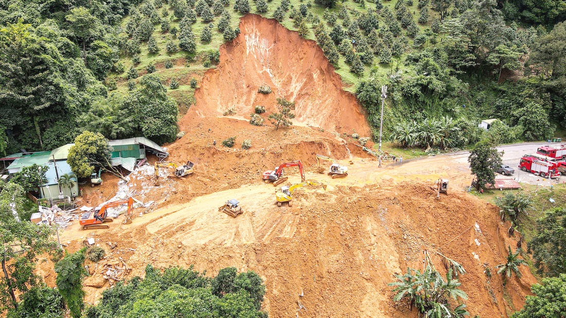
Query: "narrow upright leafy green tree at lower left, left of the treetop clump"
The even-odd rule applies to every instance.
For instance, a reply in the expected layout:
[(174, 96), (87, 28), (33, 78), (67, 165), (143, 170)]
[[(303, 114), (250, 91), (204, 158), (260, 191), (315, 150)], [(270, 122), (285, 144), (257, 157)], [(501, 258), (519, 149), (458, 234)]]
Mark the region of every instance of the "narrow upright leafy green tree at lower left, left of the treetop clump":
[(55, 273), (57, 273), (55, 282), (73, 318), (80, 318), (84, 309), (83, 279), (88, 274), (84, 268), (86, 250), (86, 247), (83, 247), (72, 254), (67, 254), (55, 264)]

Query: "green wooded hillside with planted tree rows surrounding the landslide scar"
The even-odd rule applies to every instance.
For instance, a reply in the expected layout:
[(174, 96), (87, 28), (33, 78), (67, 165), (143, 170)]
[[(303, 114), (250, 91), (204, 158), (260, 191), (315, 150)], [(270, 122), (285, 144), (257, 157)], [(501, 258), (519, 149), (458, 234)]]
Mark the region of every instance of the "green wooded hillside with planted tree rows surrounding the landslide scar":
[(560, 0), (6, 0), (0, 153), (85, 130), (174, 140), (179, 110), (247, 12), (318, 41), (374, 127), (387, 84), (385, 128), (400, 144), (466, 146), (488, 118), (500, 119), (496, 142), (566, 129)]

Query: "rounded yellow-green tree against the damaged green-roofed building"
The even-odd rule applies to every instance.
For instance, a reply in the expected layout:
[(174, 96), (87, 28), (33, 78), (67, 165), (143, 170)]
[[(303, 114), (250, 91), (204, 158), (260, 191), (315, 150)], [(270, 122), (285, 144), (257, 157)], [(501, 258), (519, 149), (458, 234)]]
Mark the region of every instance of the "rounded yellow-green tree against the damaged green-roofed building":
[(89, 177), (95, 172), (94, 165), (123, 178), (121, 173), (112, 167), (110, 157), (112, 147), (101, 133), (84, 132), (75, 138), (75, 145), (69, 149), (67, 163), (78, 177)]

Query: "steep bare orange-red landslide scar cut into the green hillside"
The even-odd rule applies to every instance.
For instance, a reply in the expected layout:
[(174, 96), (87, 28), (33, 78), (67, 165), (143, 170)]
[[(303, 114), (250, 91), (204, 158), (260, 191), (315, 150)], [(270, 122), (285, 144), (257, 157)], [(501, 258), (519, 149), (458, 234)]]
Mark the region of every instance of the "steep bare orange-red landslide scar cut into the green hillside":
[[(238, 37), (220, 47), (220, 63), (205, 73), (188, 116), (218, 116), (231, 107), (249, 116), (257, 105), (269, 113), (276, 98), (284, 97), (296, 103), (295, 123), (370, 135), (362, 108), (342, 90), (340, 76), (316, 42), (258, 15), (244, 16), (239, 28)], [(261, 85), (273, 92), (258, 93)]]

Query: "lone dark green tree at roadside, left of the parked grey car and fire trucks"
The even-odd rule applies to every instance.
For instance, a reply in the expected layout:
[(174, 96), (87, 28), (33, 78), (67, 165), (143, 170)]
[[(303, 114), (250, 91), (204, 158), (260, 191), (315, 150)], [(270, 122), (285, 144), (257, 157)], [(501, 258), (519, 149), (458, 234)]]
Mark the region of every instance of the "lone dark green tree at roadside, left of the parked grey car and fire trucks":
[(475, 189), (485, 188), (495, 183), (495, 171), (501, 165), (501, 153), (491, 144), (482, 140), (474, 145), (468, 157), (471, 174), (475, 175)]

